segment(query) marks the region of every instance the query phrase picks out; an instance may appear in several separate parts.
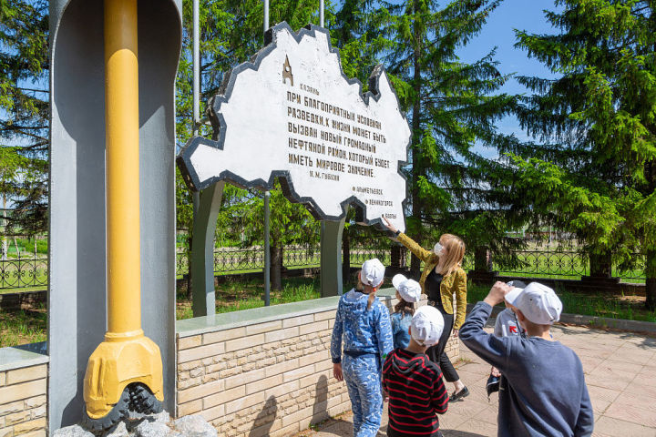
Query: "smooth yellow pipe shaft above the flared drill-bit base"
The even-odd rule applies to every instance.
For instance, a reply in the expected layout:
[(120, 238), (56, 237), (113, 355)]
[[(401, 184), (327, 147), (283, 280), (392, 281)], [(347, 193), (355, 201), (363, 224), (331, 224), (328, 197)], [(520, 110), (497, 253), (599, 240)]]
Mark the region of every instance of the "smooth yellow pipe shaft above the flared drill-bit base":
[(137, 0), (105, 0), (108, 333), (141, 330)]

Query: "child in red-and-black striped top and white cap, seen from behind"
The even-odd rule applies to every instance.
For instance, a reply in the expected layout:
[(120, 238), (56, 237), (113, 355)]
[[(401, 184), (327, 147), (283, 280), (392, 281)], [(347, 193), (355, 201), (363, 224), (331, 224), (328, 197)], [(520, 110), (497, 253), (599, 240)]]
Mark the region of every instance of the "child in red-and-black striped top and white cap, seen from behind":
[(424, 306), (410, 323), (410, 344), (395, 349), (384, 362), (383, 388), (389, 395), (388, 437), (441, 437), (437, 414), (448, 408), (442, 371), (425, 355), (444, 330), (439, 310)]

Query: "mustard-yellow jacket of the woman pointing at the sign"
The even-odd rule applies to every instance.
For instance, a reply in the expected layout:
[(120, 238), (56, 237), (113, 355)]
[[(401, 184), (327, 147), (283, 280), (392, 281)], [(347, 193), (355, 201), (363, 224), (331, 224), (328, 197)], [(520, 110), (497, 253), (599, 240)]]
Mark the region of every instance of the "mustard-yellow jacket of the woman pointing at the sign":
[[(415, 257), (424, 261), (424, 271), (422, 272), (421, 279), (419, 279), (419, 284), (422, 287), (422, 292), (427, 294), (424, 286), (425, 279), (430, 271), (436, 268), (437, 255), (433, 251), (419, 246), (414, 239), (411, 239), (403, 232), (398, 235), (397, 239), (415, 254)], [(466, 273), (465, 270), (459, 267), (444, 277), (440, 284), (440, 298), (447, 314), (454, 313), (454, 293), (456, 293), (456, 320), (454, 321), (454, 330), (459, 330), (460, 326), (465, 322), (466, 314)]]

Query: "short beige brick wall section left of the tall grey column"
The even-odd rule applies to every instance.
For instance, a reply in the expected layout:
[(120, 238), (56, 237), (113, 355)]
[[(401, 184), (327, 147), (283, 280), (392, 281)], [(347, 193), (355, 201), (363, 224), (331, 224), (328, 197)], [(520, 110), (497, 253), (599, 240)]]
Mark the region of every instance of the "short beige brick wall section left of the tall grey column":
[(0, 437), (46, 436), (47, 365), (0, 371)]

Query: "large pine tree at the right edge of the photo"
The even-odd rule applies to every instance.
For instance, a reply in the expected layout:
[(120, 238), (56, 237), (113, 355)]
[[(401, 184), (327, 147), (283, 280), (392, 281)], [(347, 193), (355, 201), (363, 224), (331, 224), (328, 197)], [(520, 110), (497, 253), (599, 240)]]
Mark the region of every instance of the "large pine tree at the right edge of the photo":
[(536, 211), (576, 232), (593, 256), (620, 268), (646, 259), (656, 308), (656, 15), (650, 1), (557, 0), (557, 35), (518, 32), (517, 46), (554, 73), (524, 77), (534, 90), (518, 117), (542, 145), (513, 156)]

